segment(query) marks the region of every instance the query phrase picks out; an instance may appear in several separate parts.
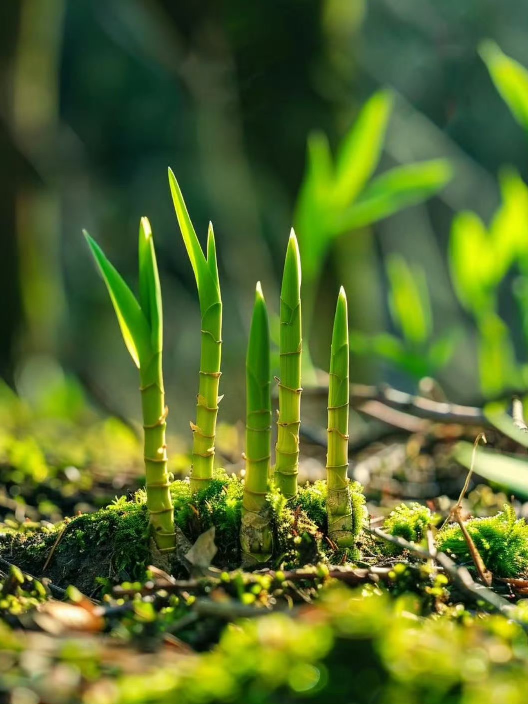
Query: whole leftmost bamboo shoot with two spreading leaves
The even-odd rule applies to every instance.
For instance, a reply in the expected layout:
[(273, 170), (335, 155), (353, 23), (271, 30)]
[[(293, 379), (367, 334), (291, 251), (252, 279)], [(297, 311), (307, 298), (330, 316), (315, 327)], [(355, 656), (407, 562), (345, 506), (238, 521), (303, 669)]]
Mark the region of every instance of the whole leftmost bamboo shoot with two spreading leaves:
[(139, 368), (144, 427), (146, 505), (158, 550), (175, 550), (175, 525), (165, 430), (168, 408), (163, 388), (163, 310), (156, 252), (149, 220), (139, 227), (139, 301), (106, 258), (99, 245), (84, 233), (110, 293), (125, 344)]

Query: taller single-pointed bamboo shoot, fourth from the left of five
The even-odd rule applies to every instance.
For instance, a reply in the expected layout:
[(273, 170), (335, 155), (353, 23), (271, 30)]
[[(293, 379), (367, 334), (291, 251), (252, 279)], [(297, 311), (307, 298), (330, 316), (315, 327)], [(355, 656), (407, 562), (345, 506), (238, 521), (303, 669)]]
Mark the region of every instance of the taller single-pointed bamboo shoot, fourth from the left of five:
[(275, 484), (287, 498), (297, 494), (301, 426), (301, 258), (292, 229), (282, 276), (279, 332), (279, 419)]

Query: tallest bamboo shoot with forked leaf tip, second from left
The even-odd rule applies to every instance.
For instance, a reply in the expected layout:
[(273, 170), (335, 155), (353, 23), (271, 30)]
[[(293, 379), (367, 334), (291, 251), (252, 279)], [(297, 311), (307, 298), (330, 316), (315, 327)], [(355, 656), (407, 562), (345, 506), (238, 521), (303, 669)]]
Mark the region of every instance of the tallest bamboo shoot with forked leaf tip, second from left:
[(218, 403), (222, 400), (222, 396), (218, 396), (222, 375), (222, 298), (213, 225), (209, 223), (205, 256), (196, 237), (180, 186), (170, 169), (169, 182), (176, 215), (194, 270), (201, 310), (199, 393), (196, 397), (196, 423), (190, 424), (193, 433), (191, 491), (195, 494), (196, 491), (205, 489), (213, 479), (216, 420)]

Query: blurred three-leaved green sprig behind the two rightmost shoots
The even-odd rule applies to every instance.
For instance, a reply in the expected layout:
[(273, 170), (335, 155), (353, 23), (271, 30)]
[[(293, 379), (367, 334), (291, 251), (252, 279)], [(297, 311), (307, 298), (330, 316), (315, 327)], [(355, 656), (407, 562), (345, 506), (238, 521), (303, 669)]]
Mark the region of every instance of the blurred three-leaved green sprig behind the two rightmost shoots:
[(439, 159), (394, 168), (367, 184), (379, 163), (391, 107), (392, 95), (386, 90), (365, 103), (337, 149), (335, 166), (325, 134), (308, 138), (294, 218), (308, 291), (317, 282), (332, 239), (423, 201), (451, 178), (448, 163)]

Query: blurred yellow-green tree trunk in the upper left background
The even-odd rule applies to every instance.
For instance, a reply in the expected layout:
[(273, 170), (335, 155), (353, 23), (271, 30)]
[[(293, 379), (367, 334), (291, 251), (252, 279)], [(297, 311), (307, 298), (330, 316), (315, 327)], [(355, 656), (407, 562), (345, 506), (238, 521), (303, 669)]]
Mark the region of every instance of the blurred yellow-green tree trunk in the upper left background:
[(58, 120), (64, 0), (23, 0), (13, 65), (9, 122), (37, 179), (15, 197), (20, 293), (25, 337), (20, 352), (57, 356), (65, 308), (61, 272), (61, 201), (52, 177), (59, 158)]

